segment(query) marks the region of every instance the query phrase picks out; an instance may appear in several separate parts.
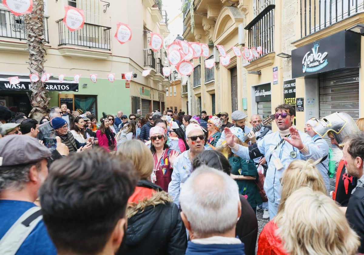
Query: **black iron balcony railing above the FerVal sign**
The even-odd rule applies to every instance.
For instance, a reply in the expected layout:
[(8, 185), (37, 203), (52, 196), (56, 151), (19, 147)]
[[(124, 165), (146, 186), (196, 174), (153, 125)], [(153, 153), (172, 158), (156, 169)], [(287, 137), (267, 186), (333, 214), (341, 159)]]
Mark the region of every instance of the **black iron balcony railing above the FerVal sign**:
[(363, 12), (363, 0), (300, 0), (301, 38)]

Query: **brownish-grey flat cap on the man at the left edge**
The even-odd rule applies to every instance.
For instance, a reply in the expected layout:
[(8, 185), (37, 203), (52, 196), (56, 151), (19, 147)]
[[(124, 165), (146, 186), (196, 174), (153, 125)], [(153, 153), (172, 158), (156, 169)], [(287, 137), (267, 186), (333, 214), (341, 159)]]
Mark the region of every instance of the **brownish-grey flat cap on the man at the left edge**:
[(4, 166), (30, 164), (50, 157), (51, 151), (36, 138), (17, 135), (0, 139), (0, 170)]

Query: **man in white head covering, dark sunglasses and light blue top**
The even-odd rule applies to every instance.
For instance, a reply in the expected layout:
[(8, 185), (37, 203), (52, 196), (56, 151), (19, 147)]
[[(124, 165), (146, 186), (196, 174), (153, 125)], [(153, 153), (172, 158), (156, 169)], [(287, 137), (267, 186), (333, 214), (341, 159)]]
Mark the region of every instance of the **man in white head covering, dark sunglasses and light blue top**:
[(177, 205), (179, 205), (179, 192), (192, 172), (193, 159), (199, 153), (207, 150), (204, 146), (205, 134), (201, 126), (191, 123), (186, 127), (186, 142), (190, 149), (183, 152), (174, 160), (172, 180), (168, 186), (168, 193)]

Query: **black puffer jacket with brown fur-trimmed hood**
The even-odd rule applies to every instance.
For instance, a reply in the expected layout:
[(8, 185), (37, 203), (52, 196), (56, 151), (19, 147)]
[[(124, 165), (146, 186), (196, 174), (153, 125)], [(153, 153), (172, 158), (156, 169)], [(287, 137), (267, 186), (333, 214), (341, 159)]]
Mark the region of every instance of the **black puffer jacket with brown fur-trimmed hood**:
[(126, 248), (118, 254), (185, 254), (186, 228), (177, 205), (167, 192), (150, 181), (141, 180), (137, 186), (157, 192), (147, 200), (128, 205)]

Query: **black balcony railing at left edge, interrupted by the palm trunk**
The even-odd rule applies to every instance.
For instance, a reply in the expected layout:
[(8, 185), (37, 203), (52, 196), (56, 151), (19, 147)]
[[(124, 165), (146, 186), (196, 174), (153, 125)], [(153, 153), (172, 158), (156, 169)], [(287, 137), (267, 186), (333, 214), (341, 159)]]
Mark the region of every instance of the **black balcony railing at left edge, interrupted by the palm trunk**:
[[(47, 17), (43, 17), (44, 41), (49, 43), (47, 20)], [(27, 40), (24, 15), (15, 16), (7, 10), (0, 10), (0, 36)]]

